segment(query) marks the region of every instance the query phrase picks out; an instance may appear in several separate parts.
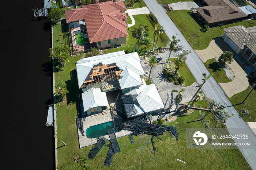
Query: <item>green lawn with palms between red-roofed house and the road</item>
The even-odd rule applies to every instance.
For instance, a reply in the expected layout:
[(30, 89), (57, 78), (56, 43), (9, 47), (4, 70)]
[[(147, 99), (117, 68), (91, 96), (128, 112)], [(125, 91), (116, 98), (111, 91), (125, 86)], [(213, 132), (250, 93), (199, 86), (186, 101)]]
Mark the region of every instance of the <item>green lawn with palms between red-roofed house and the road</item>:
[[(132, 34), (131, 31), (133, 31), (133, 28), (139, 27), (139, 24), (148, 26), (148, 30), (149, 30), (148, 37), (152, 41), (154, 40), (154, 36), (153, 35), (154, 35), (154, 26), (155, 26), (155, 24), (152, 24), (150, 22), (150, 20), (148, 19), (148, 14), (133, 15), (133, 18), (135, 20), (135, 25), (130, 27), (130, 28), (127, 28), (127, 32), (129, 34), (129, 36), (126, 38), (126, 44), (123, 47), (119, 47), (119, 48), (111, 49), (111, 50), (106, 50), (106, 53), (113, 53), (113, 52), (121, 51), (121, 50), (124, 50), (125, 53), (130, 53), (132, 51), (133, 46), (137, 42), (137, 39), (133, 38), (131, 36), (131, 34)], [(165, 34), (165, 32), (161, 33), (159, 38), (158, 38), (157, 47), (166, 47), (166, 44), (168, 43), (169, 40), (170, 39)], [(137, 50), (137, 47), (135, 48), (135, 51)], [(150, 49), (148, 49), (148, 50), (150, 50)], [(152, 48), (151, 48), (151, 50), (152, 50)], [(135, 51), (133, 51), (133, 52), (135, 52)], [(144, 55), (144, 49), (139, 48), (138, 54), (139, 55)]]

